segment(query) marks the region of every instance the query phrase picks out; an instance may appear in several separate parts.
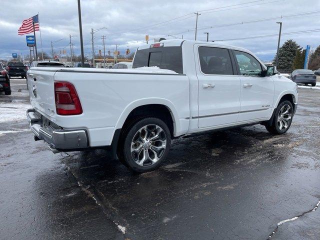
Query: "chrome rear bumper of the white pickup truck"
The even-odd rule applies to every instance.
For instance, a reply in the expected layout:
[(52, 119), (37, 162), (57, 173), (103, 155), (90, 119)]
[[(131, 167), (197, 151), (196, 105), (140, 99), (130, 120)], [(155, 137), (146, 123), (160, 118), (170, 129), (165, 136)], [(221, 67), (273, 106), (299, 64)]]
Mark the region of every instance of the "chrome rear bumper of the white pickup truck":
[(46, 141), (54, 153), (88, 147), (87, 133), (84, 129), (65, 130), (33, 108), (26, 111), (26, 118), (34, 135)]

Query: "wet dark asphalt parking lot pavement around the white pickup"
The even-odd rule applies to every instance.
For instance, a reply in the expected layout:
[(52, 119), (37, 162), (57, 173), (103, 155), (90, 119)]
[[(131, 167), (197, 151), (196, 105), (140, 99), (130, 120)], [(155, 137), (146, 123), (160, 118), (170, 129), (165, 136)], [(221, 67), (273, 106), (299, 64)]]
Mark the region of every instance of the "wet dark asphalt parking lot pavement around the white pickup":
[[(13, 89), (1, 113), (28, 106), (25, 86)], [(143, 174), (105, 150), (53, 154), (15, 109), (0, 121), (0, 238), (318, 239), (319, 93), (299, 88), (286, 134), (255, 125), (178, 138)]]

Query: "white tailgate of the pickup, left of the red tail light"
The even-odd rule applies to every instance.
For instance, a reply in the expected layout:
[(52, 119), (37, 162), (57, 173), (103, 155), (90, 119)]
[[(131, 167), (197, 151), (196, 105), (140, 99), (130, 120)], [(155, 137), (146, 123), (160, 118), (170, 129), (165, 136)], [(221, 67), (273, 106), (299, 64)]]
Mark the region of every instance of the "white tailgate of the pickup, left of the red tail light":
[(31, 105), (48, 118), (55, 116), (54, 70), (36, 69), (32, 67), (27, 71), (26, 77), (29, 88)]

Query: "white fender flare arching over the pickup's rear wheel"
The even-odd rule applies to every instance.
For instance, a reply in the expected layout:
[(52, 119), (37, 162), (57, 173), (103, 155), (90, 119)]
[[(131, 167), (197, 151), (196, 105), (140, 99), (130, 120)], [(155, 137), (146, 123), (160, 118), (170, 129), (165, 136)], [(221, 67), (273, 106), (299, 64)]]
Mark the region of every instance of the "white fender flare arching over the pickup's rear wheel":
[(115, 130), (122, 128), (123, 123), (126, 120), (126, 118), (128, 117), (128, 115), (130, 114), (130, 112), (132, 110), (134, 110), (136, 107), (143, 106), (143, 105), (149, 105), (149, 104), (159, 104), (159, 105), (164, 105), (165, 107), (167, 107), (170, 114), (171, 114), (172, 120), (173, 120), (173, 134), (175, 132), (180, 131), (179, 115), (178, 115), (178, 112), (175, 109), (175, 107), (171, 101), (169, 101), (168, 99), (165, 99), (165, 98), (158, 98), (158, 97), (140, 98), (140, 99), (137, 99), (137, 100), (130, 102), (129, 104), (127, 104), (124, 107), (123, 111), (121, 112), (121, 115), (119, 116), (119, 118), (114, 126), (114, 129), (112, 132), (112, 137), (110, 139), (110, 144), (112, 142)]

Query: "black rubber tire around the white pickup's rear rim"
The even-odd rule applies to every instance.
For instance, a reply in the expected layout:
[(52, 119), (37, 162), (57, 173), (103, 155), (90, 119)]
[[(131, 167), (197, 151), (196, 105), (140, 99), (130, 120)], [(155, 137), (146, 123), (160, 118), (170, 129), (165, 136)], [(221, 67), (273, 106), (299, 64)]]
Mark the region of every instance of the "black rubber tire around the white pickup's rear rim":
[[(156, 126), (158, 126), (161, 130), (159, 131), (160, 136), (157, 138), (154, 138), (154, 139), (159, 139), (159, 140), (149, 141), (150, 145), (148, 145), (144, 149), (140, 150), (139, 153), (134, 153), (134, 152), (132, 153), (131, 152), (131, 144), (132, 144), (132, 142), (134, 142), (134, 138), (138, 135), (139, 136), (138, 139), (142, 140), (142, 138), (148, 139), (147, 137), (154, 136), (157, 131), (156, 129), (159, 129), (159, 128), (156, 128)], [(148, 128), (146, 128), (146, 129), (148, 129), (147, 130), (148, 133), (146, 133), (146, 134), (148, 134), (149, 136), (143, 134), (143, 137), (142, 137), (143, 130), (141, 130), (141, 128), (143, 128), (143, 127), (148, 127)], [(143, 144), (141, 144), (141, 142), (139, 143), (138, 139), (136, 140), (136, 142), (138, 144), (137, 146), (142, 147)], [(150, 140), (150, 139), (148, 139), (148, 140)], [(156, 142), (162, 143), (163, 141), (165, 141), (164, 148), (161, 148), (161, 150), (158, 150), (157, 148), (155, 148)], [(170, 148), (170, 141), (171, 141), (171, 136), (170, 136), (169, 128), (161, 119), (155, 118), (155, 117), (144, 117), (142, 119), (139, 119), (139, 120), (131, 123), (130, 127), (128, 127), (126, 130), (123, 131), (122, 137), (119, 140), (118, 158), (122, 163), (124, 163), (127, 167), (131, 168), (135, 172), (151, 171), (151, 170), (154, 170), (155, 168), (157, 168), (163, 162), (163, 160), (166, 158), (166, 155), (167, 155), (169, 148)], [(143, 141), (143, 143), (144, 143), (144, 141)], [(159, 151), (156, 153), (157, 155), (154, 154), (155, 149), (156, 149), (156, 151)], [(139, 161), (139, 157), (144, 156), (146, 154), (145, 151), (147, 152), (147, 155), (150, 157), (150, 159), (143, 161), (142, 165), (140, 165), (140, 164), (138, 164), (138, 162), (141, 162), (142, 160)], [(135, 155), (136, 159), (133, 158), (133, 155)], [(155, 159), (155, 157), (158, 159), (155, 162), (153, 162), (151, 160), (152, 156), (153, 156), (153, 159)]]

